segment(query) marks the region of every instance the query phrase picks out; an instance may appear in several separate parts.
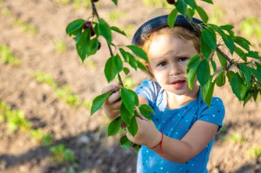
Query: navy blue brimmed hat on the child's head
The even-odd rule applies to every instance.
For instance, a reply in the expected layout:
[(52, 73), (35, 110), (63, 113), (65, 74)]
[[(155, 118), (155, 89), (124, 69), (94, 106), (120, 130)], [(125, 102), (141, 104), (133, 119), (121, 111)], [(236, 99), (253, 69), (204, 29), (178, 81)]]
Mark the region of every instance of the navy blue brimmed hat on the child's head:
[[(197, 18), (192, 18), (192, 21), (196, 24), (201, 24), (203, 23), (202, 21), (198, 20)], [(152, 33), (152, 31), (157, 31), (158, 29), (161, 29), (163, 27), (168, 26), (168, 14), (167, 15), (161, 15), (157, 16), (155, 18), (150, 19), (143, 25), (137, 29), (133, 36), (133, 40), (131, 44), (136, 45), (136, 46), (141, 46), (144, 43), (144, 39)], [(194, 31), (194, 28), (184, 16), (181, 14), (178, 14), (176, 21), (174, 22), (174, 26), (181, 26), (181, 27), (186, 27), (188, 29), (191, 29)], [(142, 38), (142, 39), (141, 39)]]

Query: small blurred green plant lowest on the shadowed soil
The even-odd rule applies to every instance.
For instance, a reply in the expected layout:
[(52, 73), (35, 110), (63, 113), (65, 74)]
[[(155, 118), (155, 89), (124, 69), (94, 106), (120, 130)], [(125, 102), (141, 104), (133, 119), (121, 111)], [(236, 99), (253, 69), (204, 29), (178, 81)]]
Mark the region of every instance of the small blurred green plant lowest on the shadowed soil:
[(58, 146), (52, 146), (50, 148), (52, 152), (52, 160), (57, 163), (73, 163), (75, 162), (73, 150), (66, 148), (65, 144), (59, 144)]

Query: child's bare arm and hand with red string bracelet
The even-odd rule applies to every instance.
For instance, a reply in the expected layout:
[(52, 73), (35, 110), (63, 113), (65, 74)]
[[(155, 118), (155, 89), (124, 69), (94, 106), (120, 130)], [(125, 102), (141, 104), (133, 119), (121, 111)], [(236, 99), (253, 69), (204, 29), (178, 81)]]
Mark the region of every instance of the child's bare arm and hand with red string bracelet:
[[(139, 96), (140, 103), (146, 103), (145, 99)], [(128, 139), (135, 144), (141, 144), (152, 148), (161, 141), (161, 133), (156, 129), (152, 121), (136, 118), (138, 133), (133, 136), (127, 133)], [(198, 120), (194, 123), (190, 131), (181, 139), (173, 139), (166, 135), (163, 136), (162, 150), (160, 146), (153, 148), (161, 157), (177, 163), (185, 163), (198, 155), (207, 144), (212, 140), (218, 125), (211, 122)]]

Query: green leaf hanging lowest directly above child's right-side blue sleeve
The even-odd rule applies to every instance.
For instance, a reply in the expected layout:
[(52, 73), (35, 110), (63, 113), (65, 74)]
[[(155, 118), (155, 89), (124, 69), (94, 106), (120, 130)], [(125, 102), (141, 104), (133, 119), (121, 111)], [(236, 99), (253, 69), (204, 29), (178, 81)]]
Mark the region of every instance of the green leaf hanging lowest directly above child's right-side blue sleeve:
[(212, 82), (213, 76), (209, 78), (209, 81), (207, 81), (207, 84), (203, 87), (201, 87), (201, 93), (202, 93), (202, 98), (207, 105), (211, 105), (212, 102), (212, 95), (214, 92), (214, 86), (215, 86), (215, 81)]

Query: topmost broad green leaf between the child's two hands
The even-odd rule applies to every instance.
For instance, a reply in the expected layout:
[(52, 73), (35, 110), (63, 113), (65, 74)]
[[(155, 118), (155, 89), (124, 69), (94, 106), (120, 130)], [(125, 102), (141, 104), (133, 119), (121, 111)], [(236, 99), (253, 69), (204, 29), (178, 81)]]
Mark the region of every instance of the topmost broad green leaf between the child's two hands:
[(122, 87), (121, 97), (122, 102), (124, 103), (128, 111), (131, 112), (131, 114), (133, 114), (135, 110), (135, 105), (137, 105), (137, 102), (139, 103), (137, 94), (133, 92), (133, 90), (128, 90), (127, 88)]

